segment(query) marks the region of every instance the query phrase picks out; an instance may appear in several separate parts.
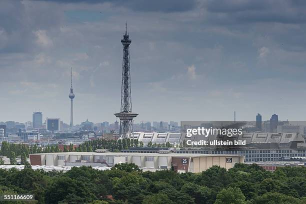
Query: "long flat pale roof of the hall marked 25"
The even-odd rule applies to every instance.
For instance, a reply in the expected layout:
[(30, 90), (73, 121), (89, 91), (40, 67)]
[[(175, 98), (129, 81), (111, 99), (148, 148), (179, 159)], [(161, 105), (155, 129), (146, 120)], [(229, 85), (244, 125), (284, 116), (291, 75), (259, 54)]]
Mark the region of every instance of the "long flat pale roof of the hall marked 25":
[(236, 156), (231, 154), (203, 154), (203, 153), (137, 153), (137, 152), (52, 152), (52, 153), (33, 153), (30, 155), (110, 155), (110, 156), (177, 156), (177, 157), (197, 157), (197, 156)]

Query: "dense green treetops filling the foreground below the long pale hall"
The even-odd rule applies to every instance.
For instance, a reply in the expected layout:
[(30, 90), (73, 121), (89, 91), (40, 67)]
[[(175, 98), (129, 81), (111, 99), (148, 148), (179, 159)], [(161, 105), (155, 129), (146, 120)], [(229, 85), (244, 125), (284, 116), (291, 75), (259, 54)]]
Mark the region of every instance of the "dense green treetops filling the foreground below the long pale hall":
[(201, 173), (142, 172), (126, 163), (104, 171), (85, 166), (67, 172), (0, 169), (0, 194), (33, 193), (37, 201), (32, 203), (46, 204), (301, 204), (306, 203), (305, 189), (305, 167), (270, 172), (255, 164), (236, 164), (228, 171), (212, 166)]

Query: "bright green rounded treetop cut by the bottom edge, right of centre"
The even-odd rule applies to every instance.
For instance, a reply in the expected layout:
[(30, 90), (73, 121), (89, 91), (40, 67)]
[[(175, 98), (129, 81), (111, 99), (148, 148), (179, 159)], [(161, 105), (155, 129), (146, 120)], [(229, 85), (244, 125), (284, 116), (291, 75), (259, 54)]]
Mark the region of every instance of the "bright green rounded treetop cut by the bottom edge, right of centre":
[(245, 204), (245, 197), (237, 187), (228, 187), (219, 191), (214, 204)]

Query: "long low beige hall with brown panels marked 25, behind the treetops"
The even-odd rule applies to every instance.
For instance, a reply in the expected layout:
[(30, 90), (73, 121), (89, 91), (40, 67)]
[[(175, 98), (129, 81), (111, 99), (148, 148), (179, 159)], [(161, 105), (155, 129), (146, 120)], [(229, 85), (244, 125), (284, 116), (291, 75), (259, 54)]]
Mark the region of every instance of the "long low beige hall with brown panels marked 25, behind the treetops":
[(181, 154), (171, 150), (160, 150), (158, 153), (131, 152), (56, 152), (30, 154), (31, 165), (62, 166), (107, 166), (116, 163), (135, 163), (143, 170), (169, 169), (173, 166), (176, 172), (201, 172), (219, 165), (226, 169), (235, 163), (243, 163), (241, 155)]

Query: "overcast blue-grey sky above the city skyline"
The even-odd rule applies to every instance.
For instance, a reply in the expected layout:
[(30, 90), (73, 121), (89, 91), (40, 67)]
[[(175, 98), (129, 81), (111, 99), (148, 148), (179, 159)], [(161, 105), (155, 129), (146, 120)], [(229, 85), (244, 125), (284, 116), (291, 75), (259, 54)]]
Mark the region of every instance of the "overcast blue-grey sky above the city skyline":
[(304, 0), (1, 0), (0, 121), (306, 120)]

